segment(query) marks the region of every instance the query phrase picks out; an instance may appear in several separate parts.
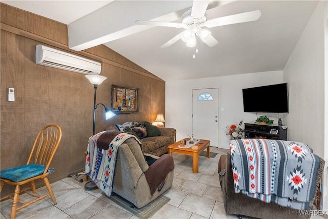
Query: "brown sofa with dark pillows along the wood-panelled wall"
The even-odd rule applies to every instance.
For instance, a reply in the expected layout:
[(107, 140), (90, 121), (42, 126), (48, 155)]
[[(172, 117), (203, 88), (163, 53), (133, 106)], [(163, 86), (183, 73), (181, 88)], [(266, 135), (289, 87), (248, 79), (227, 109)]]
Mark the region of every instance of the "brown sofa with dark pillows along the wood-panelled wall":
[(156, 156), (168, 153), (168, 146), (176, 141), (174, 128), (160, 128), (146, 121), (114, 124), (107, 127), (106, 130), (117, 130), (136, 135), (141, 141), (142, 151)]

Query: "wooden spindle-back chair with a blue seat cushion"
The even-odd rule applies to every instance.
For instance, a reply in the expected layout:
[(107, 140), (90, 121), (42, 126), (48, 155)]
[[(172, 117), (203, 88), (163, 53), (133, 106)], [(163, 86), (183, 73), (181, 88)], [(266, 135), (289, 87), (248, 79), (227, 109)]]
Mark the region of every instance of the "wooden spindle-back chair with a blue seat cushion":
[[(1, 180), (0, 192), (2, 191), (2, 188), (5, 183), (16, 186), (14, 193), (9, 194), (5, 197), (1, 197), (0, 199), (1, 201), (7, 198), (13, 199), (12, 212), (11, 212), (12, 219), (15, 218), (17, 210), (27, 207), (37, 201), (40, 201), (49, 195), (51, 196), (53, 203), (55, 205), (57, 204), (56, 198), (52, 192), (47, 176), (50, 173), (49, 166), (59, 146), (60, 140), (61, 140), (61, 129), (59, 126), (57, 125), (45, 126), (42, 130), (40, 130), (40, 132), (35, 138), (30, 156), (27, 161), (27, 165), (0, 171), (0, 180)], [(45, 194), (43, 196), (39, 196), (35, 192), (34, 181), (39, 178), (43, 178), (46, 187), (49, 191), (48, 194)], [(33, 193), (26, 191), (27, 189), (20, 191), (20, 186), (27, 183), (31, 183), (31, 188)], [(22, 193), (24, 191), (36, 198), (34, 198), (34, 200), (28, 203), (20, 201), (18, 198), (19, 193)], [(17, 206), (18, 202), (23, 205), (18, 207)]]

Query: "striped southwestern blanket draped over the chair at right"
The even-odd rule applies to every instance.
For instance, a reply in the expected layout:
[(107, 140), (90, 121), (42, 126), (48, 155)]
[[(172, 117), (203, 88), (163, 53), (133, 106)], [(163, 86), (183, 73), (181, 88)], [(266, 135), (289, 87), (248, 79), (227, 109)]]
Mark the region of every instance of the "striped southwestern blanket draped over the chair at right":
[(319, 157), (303, 143), (240, 139), (230, 142), (235, 193), (305, 210), (316, 194)]

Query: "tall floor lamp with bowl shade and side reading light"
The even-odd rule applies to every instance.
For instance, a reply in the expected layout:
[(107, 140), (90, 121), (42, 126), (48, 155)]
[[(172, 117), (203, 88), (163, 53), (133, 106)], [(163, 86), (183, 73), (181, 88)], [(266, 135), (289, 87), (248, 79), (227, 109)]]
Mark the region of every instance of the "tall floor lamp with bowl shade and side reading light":
[[(101, 83), (103, 83), (106, 80), (106, 77), (104, 76), (100, 76), (100, 75), (94, 75), (94, 74), (90, 74), (90, 75), (86, 75), (86, 77), (89, 79), (90, 83), (93, 84), (94, 87), (94, 101), (93, 101), (93, 131), (92, 131), (92, 135), (95, 134), (95, 123), (96, 123), (96, 109), (98, 105), (103, 105), (105, 107), (105, 112), (106, 112), (106, 120), (108, 120), (109, 118), (113, 117), (115, 114), (110, 111), (104, 104), (97, 104), (96, 105), (96, 96), (97, 96), (97, 87), (98, 85), (100, 85)], [(93, 181), (90, 181), (88, 183), (85, 184), (84, 187), (86, 190), (94, 190), (97, 189), (97, 186), (94, 184)]]

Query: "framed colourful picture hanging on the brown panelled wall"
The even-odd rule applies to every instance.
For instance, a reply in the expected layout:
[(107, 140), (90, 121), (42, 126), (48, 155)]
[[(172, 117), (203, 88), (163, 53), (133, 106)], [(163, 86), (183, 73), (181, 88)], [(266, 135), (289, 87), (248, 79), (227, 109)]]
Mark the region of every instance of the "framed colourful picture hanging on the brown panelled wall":
[(139, 88), (112, 85), (111, 110), (115, 114), (139, 112)]

